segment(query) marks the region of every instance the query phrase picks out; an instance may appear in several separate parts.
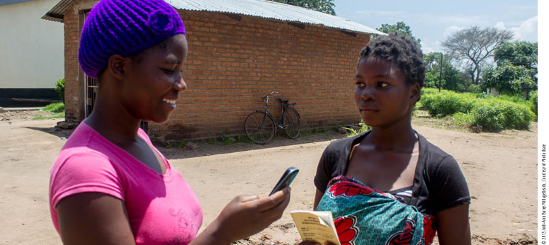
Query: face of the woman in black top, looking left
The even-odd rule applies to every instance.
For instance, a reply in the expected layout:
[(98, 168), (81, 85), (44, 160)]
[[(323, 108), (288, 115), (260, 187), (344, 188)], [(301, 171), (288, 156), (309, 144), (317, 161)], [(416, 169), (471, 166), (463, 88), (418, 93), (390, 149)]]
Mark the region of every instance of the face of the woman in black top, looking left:
[(414, 86), (392, 62), (380, 57), (361, 60), (356, 71), (355, 103), (366, 125), (385, 127), (411, 120)]

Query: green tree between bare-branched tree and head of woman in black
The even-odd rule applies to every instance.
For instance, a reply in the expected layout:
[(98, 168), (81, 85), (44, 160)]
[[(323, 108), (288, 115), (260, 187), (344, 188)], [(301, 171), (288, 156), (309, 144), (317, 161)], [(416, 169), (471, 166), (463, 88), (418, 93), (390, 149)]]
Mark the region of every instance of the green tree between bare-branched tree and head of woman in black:
[[(468, 88), (467, 77), (455, 68), (448, 59), (442, 59), (441, 52), (430, 52), (423, 55), (425, 62), (425, 86), (428, 88), (438, 88), (440, 82), (442, 89), (463, 92)], [(446, 57), (446, 56), (443, 56)], [(442, 64), (442, 81), (441, 78)]]

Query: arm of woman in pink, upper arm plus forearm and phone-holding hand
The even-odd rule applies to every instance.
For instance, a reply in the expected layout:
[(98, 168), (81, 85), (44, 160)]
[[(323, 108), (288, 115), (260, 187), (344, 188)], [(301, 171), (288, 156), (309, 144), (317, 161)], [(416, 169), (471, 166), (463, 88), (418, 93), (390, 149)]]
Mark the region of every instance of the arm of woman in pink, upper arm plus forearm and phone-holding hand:
[[(290, 202), (286, 187), (266, 198), (237, 196), (191, 244), (230, 244), (280, 219)], [(135, 244), (122, 200), (104, 193), (78, 193), (55, 207), (63, 244)], [(190, 244), (190, 245), (191, 245)]]

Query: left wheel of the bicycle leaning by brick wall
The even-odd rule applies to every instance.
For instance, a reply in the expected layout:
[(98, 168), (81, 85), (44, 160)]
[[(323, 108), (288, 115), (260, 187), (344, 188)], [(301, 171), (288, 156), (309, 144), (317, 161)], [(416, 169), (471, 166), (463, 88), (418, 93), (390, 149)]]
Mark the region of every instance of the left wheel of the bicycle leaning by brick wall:
[(273, 138), (276, 132), (275, 123), (264, 112), (250, 113), (244, 121), (246, 136), (257, 144), (265, 144)]

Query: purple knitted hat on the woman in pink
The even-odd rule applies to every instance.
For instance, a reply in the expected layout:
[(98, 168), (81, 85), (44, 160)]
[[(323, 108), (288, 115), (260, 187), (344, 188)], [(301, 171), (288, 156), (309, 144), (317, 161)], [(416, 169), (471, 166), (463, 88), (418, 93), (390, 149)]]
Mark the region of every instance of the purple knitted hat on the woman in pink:
[(111, 55), (128, 57), (179, 33), (185, 34), (185, 25), (163, 0), (101, 0), (82, 28), (78, 61), (96, 77)]

